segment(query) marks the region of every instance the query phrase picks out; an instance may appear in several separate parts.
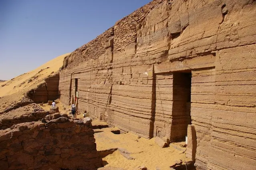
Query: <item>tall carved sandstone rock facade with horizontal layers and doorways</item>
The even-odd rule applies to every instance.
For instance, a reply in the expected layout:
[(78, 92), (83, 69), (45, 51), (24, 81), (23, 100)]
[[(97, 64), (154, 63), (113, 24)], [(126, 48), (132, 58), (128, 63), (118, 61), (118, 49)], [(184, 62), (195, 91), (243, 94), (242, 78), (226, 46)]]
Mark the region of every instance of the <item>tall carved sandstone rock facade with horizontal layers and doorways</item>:
[[(77, 79), (79, 111), (148, 138), (184, 138), (191, 121), (198, 169), (254, 169), (255, 9), (253, 0), (153, 0), (66, 58), (60, 98), (70, 102)], [(175, 74), (187, 71), (181, 107)]]

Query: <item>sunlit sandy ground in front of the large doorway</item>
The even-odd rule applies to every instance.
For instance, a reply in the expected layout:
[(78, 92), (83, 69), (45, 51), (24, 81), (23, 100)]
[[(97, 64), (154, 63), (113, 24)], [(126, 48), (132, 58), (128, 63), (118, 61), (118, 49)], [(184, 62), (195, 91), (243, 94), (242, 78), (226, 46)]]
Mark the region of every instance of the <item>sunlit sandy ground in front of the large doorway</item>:
[[(93, 121), (93, 125), (105, 124), (98, 120)], [(138, 138), (138, 135), (132, 133), (114, 134), (111, 130), (118, 130), (118, 128), (102, 128), (95, 129), (95, 139), (97, 150), (107, 150), (110, 148), (124, 148), (129, 152), (129, 156), (134, 158), (128, 160), (119, 150), (109, 154), (103, 158), (105, 166), (112, 166), (117, 168), (125, 168), (127, 170), (134, 170), (138, 166), (144, 165), (149, 170), (155, 170), (158, 167), (161, 170), (169, 170), (169, 166), (175, 164), (176, 161), (189, 161), (185, 157), (185, 148), (181, 148), (180, 143), (172, 143), (167, 148), (160, 148), (155, 143), (155, 138), (150, 140), (145, 138)], [(173, 147), (174, 146), (174, 147)]]

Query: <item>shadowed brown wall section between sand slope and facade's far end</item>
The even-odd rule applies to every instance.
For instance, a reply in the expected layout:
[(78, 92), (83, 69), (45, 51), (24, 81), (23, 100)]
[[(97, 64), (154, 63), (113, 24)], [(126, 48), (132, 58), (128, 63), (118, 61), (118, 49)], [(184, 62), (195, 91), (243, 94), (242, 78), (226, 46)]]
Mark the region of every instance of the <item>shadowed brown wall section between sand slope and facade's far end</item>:
[(32, 89), (27, 93), (28, 97), (35, 103), (46, 103), (60, 97), (58, 90), (59, 73), (46, 78), (44, 81), (36, 89)]

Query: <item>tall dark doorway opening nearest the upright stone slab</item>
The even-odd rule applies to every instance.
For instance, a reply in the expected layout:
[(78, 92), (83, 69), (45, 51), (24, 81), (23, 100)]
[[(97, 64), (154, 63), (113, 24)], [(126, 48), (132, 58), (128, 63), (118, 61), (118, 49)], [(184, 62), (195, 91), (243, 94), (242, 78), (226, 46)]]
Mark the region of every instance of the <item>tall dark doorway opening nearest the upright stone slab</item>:
[(191, 70), (173, 72), (171, 141), (185, 140), (191, 124)]

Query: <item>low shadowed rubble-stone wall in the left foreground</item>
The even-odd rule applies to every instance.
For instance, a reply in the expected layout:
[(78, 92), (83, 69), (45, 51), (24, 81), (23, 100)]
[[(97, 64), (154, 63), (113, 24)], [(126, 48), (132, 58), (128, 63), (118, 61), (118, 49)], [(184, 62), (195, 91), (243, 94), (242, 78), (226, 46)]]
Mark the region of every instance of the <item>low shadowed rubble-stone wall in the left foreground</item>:
[(48, 123), (21, 123), (0, 130), (1, 170), (101, 167), (91, 121), (70, 121), (59, 114), (52, 117), (56, 119)]

